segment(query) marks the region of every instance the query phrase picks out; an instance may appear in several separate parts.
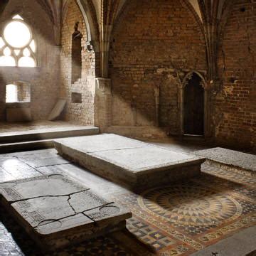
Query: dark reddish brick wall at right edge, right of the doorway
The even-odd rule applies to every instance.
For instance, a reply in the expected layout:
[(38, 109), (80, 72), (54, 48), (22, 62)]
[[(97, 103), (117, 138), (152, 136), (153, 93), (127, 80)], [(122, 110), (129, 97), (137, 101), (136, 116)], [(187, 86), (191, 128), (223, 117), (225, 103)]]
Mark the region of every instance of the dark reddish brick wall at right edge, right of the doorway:
[(223, 89), (215, 97), (215, 137), (237, 147), (256, 145), (256, 3), (235, 1), (219, 52)]

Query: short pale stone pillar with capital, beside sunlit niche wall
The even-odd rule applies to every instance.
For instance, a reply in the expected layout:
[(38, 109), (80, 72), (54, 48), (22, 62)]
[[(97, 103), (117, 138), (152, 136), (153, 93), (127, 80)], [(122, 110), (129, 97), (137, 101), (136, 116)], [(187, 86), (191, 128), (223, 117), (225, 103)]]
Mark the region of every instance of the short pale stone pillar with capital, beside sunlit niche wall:
[(112, 92), (111, 79), (96, 78), (95, 91), (95, 126), (101, 132), (112, 124)]

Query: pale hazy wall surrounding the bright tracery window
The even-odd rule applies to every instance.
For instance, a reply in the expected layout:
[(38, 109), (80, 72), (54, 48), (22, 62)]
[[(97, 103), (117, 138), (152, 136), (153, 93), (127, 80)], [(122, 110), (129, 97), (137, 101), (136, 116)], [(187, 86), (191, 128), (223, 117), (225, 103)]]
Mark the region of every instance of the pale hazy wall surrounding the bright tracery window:
[(0, 31), (6, 21), (19, 14), (31, 26), (38, 51), (37, 68), (0, 67), (0, 121), (6, 118), (6, 85), (23, 81), (31, 85), (33, 119), (47, 119), (59, 96), (60, 48), (55, 46), (53, 23), (36, 1), (12, 0), (0, 18)]

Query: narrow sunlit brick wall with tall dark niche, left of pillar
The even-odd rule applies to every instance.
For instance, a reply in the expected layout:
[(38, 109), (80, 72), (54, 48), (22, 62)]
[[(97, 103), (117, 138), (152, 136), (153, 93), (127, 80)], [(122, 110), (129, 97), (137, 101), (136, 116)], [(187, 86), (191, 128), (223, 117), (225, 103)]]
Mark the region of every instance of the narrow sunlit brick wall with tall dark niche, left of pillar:
[(92, 38), (87, 37), (88, 23), (84, 18), (77, 1), (70, 1), (62, 27), (60, 96), (67, 99), (65, 119), (92, 125), (99, 54)]

